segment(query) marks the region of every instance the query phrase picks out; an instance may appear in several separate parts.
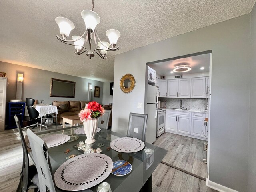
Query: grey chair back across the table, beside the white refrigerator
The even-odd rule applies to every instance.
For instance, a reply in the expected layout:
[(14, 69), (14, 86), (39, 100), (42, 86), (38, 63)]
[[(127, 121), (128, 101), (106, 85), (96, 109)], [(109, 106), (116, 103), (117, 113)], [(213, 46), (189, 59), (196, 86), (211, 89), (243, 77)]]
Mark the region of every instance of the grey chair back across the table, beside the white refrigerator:
[(127, 136), (146, 140), (148, 114), (130, 113)]

